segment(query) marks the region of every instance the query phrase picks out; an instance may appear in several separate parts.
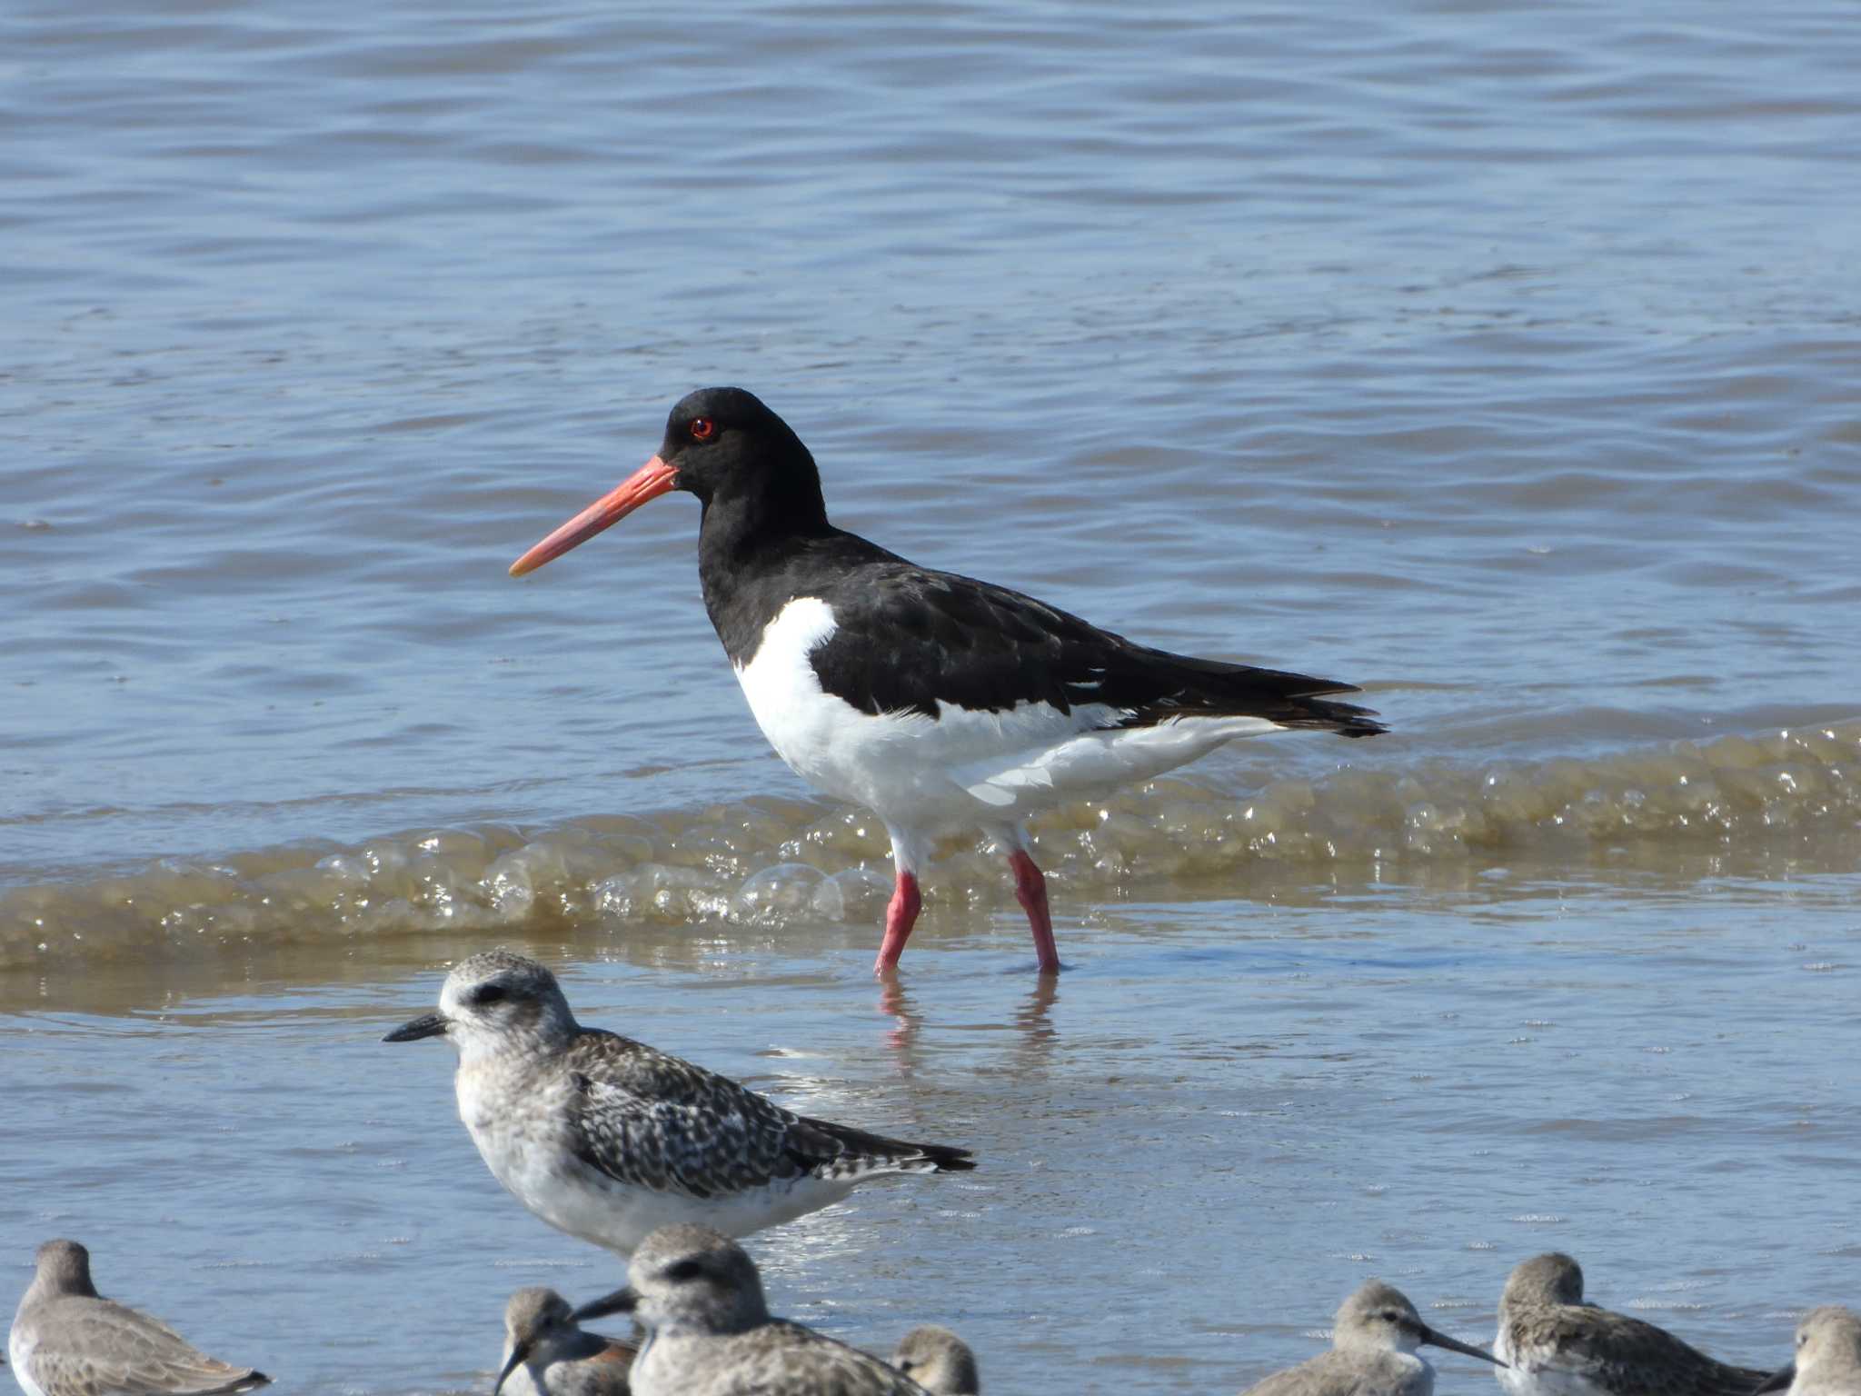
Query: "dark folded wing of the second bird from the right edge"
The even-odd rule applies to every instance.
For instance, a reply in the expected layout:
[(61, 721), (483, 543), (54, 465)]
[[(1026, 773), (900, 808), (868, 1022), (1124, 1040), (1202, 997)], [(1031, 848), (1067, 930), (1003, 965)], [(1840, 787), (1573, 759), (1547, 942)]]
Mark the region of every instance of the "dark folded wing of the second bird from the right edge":
[[(1729, 1366), (1640, 1318), (1587, 1305), (1532, 1309), (1507, 1323), (1528, 1368), (1567, 1368), (1615, 1396), (1749, 1396), (1768, 1372)], [(1533, 1361), (1556, 1353), (1556, 1361)]]

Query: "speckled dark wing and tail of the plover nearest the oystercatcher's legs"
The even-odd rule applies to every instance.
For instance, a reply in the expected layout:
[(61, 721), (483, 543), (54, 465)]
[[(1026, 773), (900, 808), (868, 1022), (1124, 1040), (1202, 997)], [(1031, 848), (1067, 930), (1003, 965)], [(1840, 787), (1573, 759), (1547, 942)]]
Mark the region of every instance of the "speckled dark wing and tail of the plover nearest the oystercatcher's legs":
[(815, 1175), (960, 1171), (966, 1148), (810, 1121), (703, 1067), (597, 1029), (569, 1046), (577, 1156), (610, 1178), (713, 1197)]

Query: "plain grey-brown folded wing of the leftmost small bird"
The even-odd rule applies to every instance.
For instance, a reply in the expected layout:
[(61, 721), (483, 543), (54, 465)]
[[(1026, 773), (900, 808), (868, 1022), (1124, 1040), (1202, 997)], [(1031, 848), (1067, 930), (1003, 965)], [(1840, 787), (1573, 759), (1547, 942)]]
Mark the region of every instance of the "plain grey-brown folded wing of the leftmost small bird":
[(56, 1396), (216, 1396), (270, 1381), (208, 1357), (160, 1320), (110, 1299), (56, 1299), (41, 1323), (58, 1329), (60, 1344), (33, 1351), (33, 1379)]

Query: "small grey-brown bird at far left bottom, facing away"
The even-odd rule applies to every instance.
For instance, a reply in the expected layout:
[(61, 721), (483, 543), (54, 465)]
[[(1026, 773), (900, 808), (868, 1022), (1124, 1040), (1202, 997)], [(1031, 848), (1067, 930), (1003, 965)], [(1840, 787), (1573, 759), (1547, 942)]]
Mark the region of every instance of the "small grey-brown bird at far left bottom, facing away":
[(37, 1260), (7, 1335), (26, 1396), (218, 1396), (272, 1379), (208, 1357), (167, 1323), (104, 1299), (91, 1284), (91, 1253), (76, 1242), (47, 1242)]

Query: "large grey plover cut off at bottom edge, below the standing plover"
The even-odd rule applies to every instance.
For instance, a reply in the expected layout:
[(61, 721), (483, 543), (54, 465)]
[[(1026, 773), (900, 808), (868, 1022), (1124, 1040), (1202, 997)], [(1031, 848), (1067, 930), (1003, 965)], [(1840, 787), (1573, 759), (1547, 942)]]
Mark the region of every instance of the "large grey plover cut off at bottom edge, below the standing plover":
[(893, 1366), (823, 1333), (770, 1318), (743, 1247), (709, 1227), (664, 1227), (627, 1266), (629, 1284), (575, 1310), (633, 1314), (646, 1346), (635, 1396), (927, 1396)]

